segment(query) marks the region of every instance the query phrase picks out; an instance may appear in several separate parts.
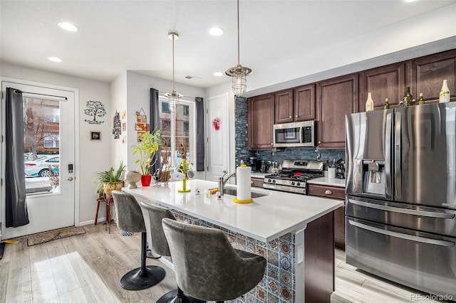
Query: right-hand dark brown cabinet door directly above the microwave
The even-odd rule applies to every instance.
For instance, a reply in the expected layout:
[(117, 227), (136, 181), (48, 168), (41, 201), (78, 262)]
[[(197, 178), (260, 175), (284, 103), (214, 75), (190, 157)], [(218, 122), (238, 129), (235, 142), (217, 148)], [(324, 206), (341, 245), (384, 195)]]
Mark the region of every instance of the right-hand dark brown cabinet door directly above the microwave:
[(303, 85), (294, 89), (294, 121), (315, 119), (315, 85)]

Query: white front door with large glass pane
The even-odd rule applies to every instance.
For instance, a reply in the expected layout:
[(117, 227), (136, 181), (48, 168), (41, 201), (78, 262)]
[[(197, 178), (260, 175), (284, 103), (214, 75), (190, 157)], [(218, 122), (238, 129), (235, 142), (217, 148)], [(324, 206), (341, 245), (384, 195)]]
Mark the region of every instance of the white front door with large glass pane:
[[(47, 88), (13, 82), (1, 83), (21, 90), (24, 106), (24, 162), (26, 203), (30, 223), (5, 226), (5, 194), (2, 186), (1, 239), (64, 228), (75, 223), (75, 90)], [(5, 110), (4, 98), (2, 112)], [(2, 114), (2, 134), (5, 132)], [(3, 142), (2, 144), (5, 144)], [(2, 148), (4, 151), (4, 147)], [(1, 166), (4, 167), (4, 152)], [(2, 169), (2, 178), (5, 179)]]

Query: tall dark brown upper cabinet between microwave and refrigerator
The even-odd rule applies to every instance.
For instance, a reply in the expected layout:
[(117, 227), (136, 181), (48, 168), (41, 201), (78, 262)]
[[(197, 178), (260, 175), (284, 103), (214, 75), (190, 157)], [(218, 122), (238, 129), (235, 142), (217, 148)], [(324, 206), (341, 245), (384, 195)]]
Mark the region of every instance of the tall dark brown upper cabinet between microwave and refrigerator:
[(358, 74), (317, 83), (317, 147), (345, 148), (345, 115), (358, 112)]

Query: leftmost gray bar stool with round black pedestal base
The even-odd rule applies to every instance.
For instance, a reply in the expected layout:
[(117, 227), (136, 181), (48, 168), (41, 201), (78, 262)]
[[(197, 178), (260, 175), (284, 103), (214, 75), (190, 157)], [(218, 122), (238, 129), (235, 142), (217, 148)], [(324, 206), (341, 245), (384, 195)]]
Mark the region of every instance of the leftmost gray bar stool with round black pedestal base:
[(145, 265), (146, 230), (140, 205), (130, 193), (113, 191), (118, 228), (131, 233), (141, 233), (141, 267), (130, 270), (120, 279), (120, 286), (129, 290), (151, 287), (165, 277), (165, 270), (160, 266)]

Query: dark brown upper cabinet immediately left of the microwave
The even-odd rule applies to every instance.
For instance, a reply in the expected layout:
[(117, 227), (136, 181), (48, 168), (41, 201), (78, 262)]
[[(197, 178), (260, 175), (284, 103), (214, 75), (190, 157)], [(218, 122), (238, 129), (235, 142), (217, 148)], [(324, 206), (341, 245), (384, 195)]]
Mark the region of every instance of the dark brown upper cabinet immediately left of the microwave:
[(274, 149), (274, 94), (249, 98), (247, 102), (247, 149)]

